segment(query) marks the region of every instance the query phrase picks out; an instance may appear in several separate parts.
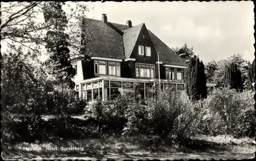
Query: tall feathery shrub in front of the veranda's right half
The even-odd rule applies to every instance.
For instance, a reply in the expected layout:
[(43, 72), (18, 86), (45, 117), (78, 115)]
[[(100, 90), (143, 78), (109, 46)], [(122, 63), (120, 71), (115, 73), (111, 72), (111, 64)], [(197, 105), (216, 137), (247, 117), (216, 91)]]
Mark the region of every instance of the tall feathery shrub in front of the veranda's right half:
[(168, 88), (164, 92), (153, 88), (150, 93), (152, 97), (146, 101), (146, 104), (150, 110), (152, 132), (165, 139), (173, 132), (175, 120), (182, 113), (183, 104), (177, 99), (177, 94)]

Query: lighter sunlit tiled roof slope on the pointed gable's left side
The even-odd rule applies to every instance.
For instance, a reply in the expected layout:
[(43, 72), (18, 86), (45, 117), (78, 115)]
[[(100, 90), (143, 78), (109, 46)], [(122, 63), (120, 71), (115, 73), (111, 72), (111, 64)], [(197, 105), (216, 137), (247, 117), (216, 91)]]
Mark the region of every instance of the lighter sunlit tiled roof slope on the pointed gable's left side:
[(140, 24), (123, 31), (123, 45), (124, 45), (125, 59), (130, 58), (134, 49), (134, 45), (138, 39), (138, 36), (140, 34), (140, 31), (143, 25), (144, 24)]

